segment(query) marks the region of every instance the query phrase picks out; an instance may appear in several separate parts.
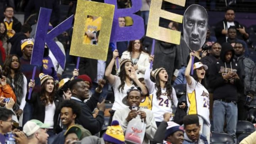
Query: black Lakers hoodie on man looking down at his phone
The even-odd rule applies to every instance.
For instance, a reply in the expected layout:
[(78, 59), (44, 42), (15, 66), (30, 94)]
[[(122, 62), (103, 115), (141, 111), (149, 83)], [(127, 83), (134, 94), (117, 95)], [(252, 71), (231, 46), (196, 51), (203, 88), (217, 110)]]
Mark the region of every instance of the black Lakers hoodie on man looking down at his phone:
[[(230, 62), (225, 62), (225, 54), (230, 51), (232, 52), (232, 57)], [(242, 82), (240, 79), (228, 79), (224, 80), (223, 76), (228, 72), (233, 72), (237, 70), (239, 75), (240, 70), (238, 63), (233, 62), (235, 51), (229, 43), (222, 44), (222, 50), (220, 53), (220, 60), (217, 63), (213, 63), (209, 69), (209, 86), (214, 89), (213, 100), (231, 100), (237, 101), (237, 89), (242, 89)]]

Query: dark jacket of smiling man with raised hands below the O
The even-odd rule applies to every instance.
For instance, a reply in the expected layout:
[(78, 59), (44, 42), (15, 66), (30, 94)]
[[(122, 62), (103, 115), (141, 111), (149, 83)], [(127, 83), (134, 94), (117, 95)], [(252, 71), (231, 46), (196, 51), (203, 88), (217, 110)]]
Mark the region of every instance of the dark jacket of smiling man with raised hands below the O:
[(97, 106), (100, 94), (101, 93), (95, 91), (86, 103), (75, 100), (71, 97), (71, 101), (75, 101), (81, 106), (81, 114), (79, 118), (76, 119), (75, 123), (82, 125), (85, 129), (88, 129), (92, 135), (100, 132), (105, 121), (103, 111), (99, 111), (96, 118), (92, 116), (92, 111)]

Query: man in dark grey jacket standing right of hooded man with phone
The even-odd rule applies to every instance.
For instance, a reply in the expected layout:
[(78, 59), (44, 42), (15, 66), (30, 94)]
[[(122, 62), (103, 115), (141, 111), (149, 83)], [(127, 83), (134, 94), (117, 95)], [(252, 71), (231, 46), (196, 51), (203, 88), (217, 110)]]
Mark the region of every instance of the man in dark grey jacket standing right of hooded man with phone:
[[(245, 48), (241, 43), (236, 43), (235, 47), (234, 62), (238, 63), (240, 69), (244, 71), (242, 74), (244, 88), (238, 89), (238, 120), (246, 120), (247, 110), (244, 107), (246, 102), (246, 96), (253, 98), (256, 90), (256, 66), (255, 63), (245, 57)], [(249, 98), (248, 97), (248, 98)], [(249, 105), (250, 103), (247, 103)]]

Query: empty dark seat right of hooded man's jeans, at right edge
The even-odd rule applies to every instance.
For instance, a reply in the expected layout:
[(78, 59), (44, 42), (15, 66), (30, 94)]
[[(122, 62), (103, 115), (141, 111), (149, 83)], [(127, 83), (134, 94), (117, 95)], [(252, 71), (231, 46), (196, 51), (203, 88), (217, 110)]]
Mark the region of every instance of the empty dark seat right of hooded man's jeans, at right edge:
[(236, 137), (242, 133), (253, 133), (254, 131), (254, 124), (249, 121), (238, 121), (236, 124)]

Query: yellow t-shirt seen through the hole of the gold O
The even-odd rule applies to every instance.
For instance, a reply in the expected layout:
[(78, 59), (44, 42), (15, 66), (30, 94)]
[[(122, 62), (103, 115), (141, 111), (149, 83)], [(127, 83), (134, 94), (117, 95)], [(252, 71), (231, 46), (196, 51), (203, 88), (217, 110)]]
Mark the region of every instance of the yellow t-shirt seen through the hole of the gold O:
[[(85, 32), (89, 31), (92, 33), (92, 32), (97, 32), (100, 29), (101, 29), (101, 17), (96, 18), (96, 20), (94, 21), (92, 17), (87, 18), (85, 23)], [(92, 39), (85, 34), (83, 43), (92, 44)]]

